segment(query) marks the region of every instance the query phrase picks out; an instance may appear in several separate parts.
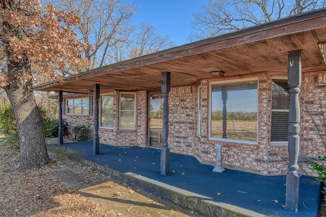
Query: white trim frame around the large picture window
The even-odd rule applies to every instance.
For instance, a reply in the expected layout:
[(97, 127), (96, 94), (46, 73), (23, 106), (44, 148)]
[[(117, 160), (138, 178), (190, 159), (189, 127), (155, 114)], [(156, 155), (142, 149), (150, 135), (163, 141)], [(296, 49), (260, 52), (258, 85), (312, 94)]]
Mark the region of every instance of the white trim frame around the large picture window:
[[(257, 92), (259, 92), (259, 84), (258, 84), (258, 77), (251, 77), (251, 78), (242, 78), (242, 79), (232, 79), (232, 80), (222, 80), (218, 82), (211, 82), (209, 83), (209, 105), (208, 105), (208, 140), (211, 141), (219, 141), (219, 142), (228, 142), (228, 143), (238, 143), (238, 144), (245, 144), (245, 145), (258, 145), (258, 99), (257, 99), (257, 141), (246, 141), (246, 140), (230, 140), (230, 139), (222, 139), (222, 138), (214, 138), (211, 137), (211, 107), (212, 107), (212, 85), (224, 85), (224, 84), (232, 84), (232, 83), (239, 83), (239, 82), (257, 82)], [(259, 93), (257, 94), (259, 95)]]

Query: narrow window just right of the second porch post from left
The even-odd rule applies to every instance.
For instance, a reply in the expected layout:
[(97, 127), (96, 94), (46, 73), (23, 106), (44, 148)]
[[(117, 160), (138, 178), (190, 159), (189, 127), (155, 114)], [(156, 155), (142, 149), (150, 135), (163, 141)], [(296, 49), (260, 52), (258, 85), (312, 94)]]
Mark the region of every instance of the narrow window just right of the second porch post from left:
[(101, 96), (100, 126), (113, 128), (113, 94)]

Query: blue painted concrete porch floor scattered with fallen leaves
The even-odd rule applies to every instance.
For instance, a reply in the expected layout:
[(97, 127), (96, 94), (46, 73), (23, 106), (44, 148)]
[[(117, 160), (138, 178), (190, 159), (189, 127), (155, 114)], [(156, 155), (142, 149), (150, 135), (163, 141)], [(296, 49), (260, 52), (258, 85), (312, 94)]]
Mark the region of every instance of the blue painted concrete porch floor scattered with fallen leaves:
[[(313, 177), (300, 178), (300, 204), (298, 212), (294, 213), (283, 207), (285, 176), (261, 176), (231, 169), (216, 173), (212, 171), (213, 166), (200, 164), (195, 157), (176, 153), (170, 155), (171, 173), (164, 176), (160, 175), (159, 149), (101, 144), (100, 154), (93, 155), (92, 141), (48, 145), (47, 148), (55, 153), (64, 152), (65, 156), (73, 160), (84, 159), (124, 175), (138, 177), (207, 201), (217, 207), (234, 209), (238, 214), (318, 216), (321, 183)], [(151, 193), (155, 195), (155, 192)]]

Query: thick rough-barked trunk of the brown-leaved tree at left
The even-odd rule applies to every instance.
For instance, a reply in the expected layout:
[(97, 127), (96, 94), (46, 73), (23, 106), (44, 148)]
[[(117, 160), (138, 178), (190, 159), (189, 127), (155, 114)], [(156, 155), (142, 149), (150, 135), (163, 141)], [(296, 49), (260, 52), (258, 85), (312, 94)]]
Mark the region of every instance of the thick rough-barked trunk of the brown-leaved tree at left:
[(35, 101), (32, 77), (18, 78), (18, 74), (30, 73), (31, 65), (26, 56), (15, 64), (8, 64), (8, 86), (5, 91), (18, 126), (20, 169), (40, 168), (52, 161), (46, 150), (44, 125)]

